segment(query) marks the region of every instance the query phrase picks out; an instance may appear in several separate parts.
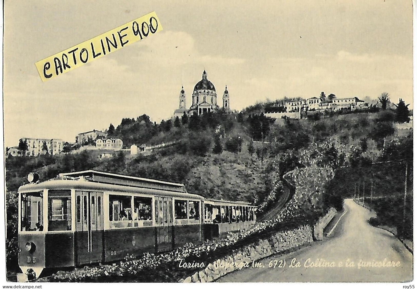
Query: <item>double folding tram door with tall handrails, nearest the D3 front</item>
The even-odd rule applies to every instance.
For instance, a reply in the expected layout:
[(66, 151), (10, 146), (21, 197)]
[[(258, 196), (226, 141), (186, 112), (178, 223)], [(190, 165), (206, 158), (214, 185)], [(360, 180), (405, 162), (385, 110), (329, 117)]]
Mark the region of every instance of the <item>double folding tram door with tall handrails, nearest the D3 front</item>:
[(102, 261), (103, 193), (75, 192), (78, 264)]

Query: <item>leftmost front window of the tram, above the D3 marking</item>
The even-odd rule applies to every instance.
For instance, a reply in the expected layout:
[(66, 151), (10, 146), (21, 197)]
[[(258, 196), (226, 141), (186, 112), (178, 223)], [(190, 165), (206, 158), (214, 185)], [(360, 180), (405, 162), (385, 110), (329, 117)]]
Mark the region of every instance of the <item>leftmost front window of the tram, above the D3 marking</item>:
[(43, 231), (42, 192), (23, 193), (20, 198), (20, 231)]

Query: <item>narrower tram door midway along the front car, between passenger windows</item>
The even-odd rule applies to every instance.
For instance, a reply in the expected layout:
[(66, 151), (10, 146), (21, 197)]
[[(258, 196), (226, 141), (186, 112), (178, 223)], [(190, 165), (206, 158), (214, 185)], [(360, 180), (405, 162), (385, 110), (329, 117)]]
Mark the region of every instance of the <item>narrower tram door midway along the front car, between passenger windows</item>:
[(169, 251), (173, 248), (172, 198), (155, 197), (156, 250)]

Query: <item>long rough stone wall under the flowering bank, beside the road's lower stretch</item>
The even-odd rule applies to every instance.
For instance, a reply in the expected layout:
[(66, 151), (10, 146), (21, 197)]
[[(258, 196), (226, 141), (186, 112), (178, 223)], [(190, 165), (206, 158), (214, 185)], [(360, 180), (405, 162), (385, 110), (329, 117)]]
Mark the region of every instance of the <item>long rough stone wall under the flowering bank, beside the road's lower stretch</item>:
[(196, 272), (193, 276), (188, 276), (186, 279), (181, 279), (180, 282), (211, 282), (229, 272), (241, 269), (246, 263), (251, 264), (252, 261), (263, 259), (291, 248), (311, 243), (312, 241), (313, 230), (308, 225), (291, 231), (274, 233), (272, 236), (242, 248), (230, 256), (208, 264), (205, 269)]

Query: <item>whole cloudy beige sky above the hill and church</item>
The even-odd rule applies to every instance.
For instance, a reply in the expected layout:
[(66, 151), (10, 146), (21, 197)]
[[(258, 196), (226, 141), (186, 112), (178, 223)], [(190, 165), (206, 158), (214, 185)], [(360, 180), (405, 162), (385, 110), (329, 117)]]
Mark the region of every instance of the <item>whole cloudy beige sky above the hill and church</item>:
[[(287, 97), (369, 96), (412, 106), (412, 1), (6, 0), (5, 146), (191, 105), (205, 69), (231, 109)], [(42, 82), (35, 62), (155, 11), (163, 30)], [(220, 101), (221, 104), (221, 101)]]

